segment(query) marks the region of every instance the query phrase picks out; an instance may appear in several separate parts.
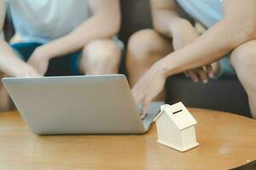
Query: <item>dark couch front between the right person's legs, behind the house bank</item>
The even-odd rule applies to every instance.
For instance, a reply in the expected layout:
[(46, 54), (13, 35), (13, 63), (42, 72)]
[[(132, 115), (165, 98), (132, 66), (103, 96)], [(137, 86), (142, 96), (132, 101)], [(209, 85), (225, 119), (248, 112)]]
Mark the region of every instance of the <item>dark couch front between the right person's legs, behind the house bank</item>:
[(251, 117), (247, 94), (237, 77), (224, 76), (206, 84), (192, 82), (180, 74), (166, 82), (166, 102), (182, 101), (189, 107), (229, 111)]

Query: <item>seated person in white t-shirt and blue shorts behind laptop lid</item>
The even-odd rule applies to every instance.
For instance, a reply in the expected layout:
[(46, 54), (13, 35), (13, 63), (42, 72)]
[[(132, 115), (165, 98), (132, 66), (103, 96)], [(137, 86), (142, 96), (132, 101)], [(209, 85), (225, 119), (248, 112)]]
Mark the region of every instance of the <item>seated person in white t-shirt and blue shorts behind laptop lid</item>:
[(13, 77), (44, 76), (50, 59), (70, 54), (74, 75), (118, 72), (119, 0), (1, 0), (2, 26), (7, 3), (21, 41), (11, 47), (1, 40), (0, 71)]

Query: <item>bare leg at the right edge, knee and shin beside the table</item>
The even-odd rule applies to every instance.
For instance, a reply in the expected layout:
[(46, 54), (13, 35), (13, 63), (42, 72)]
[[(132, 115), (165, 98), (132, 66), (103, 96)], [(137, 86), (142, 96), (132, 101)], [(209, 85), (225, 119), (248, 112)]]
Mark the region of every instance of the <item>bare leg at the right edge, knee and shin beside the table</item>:
[(256, 40), (236, 48), (231, 54), (231, 63), (247, 91), (252, 116), (256, 119)]

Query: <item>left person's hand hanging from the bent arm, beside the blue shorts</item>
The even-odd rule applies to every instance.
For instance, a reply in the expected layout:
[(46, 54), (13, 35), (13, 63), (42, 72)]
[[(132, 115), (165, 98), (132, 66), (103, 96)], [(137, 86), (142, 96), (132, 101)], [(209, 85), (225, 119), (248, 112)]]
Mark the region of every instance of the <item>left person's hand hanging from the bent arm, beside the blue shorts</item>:
[(34, 50), (27, 63), (44, 76), (48, 69), (49, 57), (44, 53), (44, 49), (39, 47)]

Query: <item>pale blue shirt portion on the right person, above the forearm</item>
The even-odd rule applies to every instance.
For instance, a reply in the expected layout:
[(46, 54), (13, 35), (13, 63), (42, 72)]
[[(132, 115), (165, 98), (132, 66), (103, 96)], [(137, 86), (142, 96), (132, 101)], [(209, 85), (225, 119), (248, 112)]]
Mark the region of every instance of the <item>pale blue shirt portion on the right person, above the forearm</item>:
[(177, 0), (177, 3), (207, 28), (223, 19), (222, 0)]

